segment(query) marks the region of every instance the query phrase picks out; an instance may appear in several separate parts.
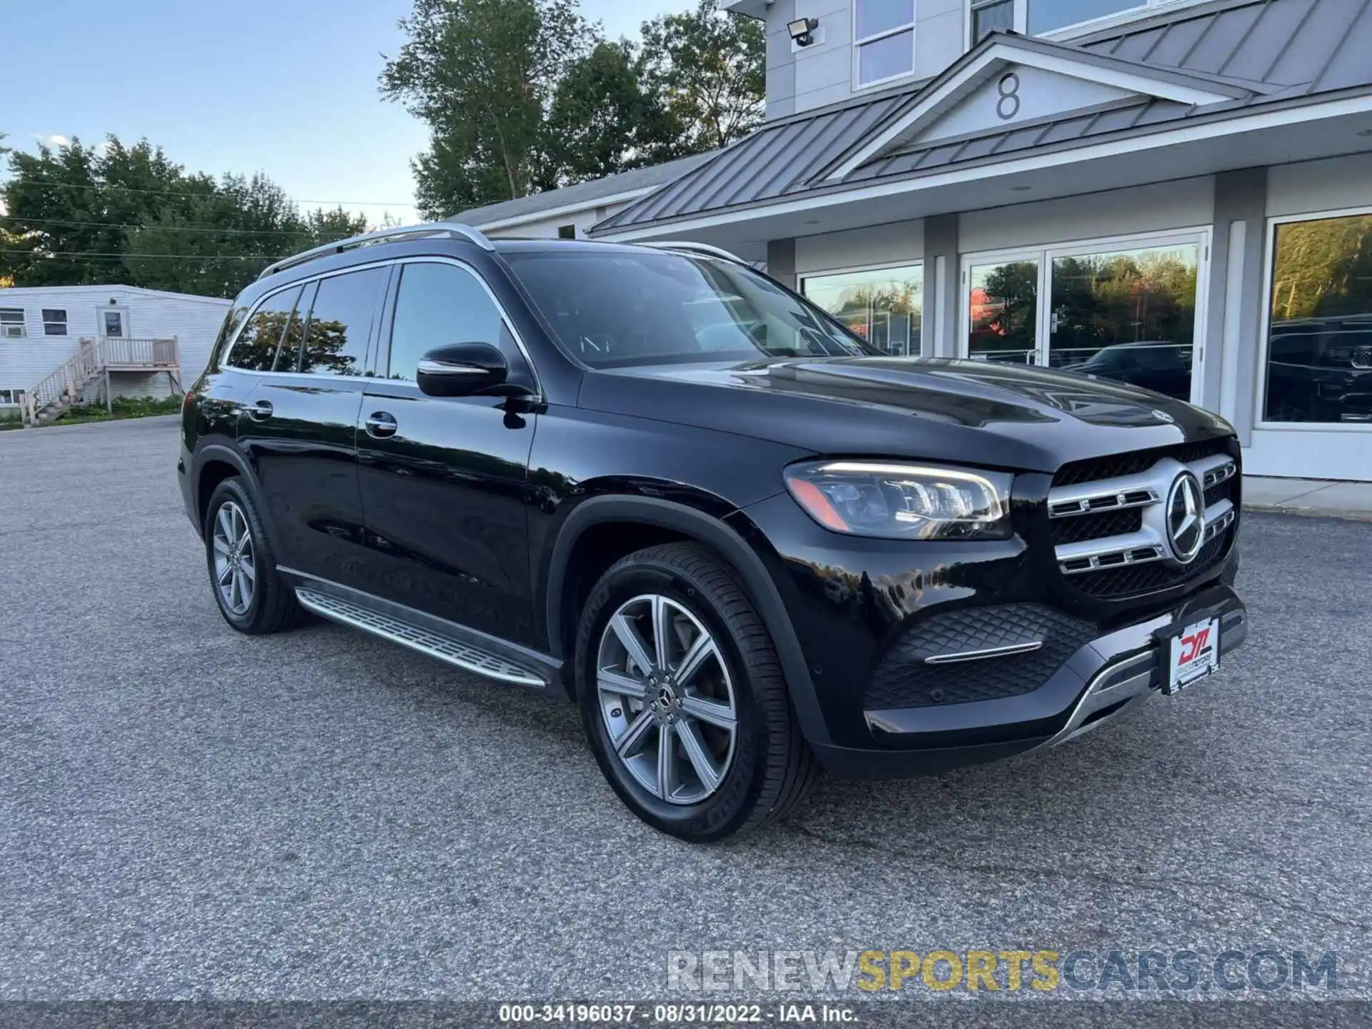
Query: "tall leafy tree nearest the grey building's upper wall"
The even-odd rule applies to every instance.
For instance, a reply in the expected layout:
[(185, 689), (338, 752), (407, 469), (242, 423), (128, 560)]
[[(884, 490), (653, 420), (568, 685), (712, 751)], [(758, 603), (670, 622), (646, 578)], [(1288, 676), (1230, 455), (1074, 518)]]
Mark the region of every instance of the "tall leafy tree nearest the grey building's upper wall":
[(682, 126), (682, 150), (701, 154), (746, 136), (766, 104), (763, 23), (715, 0), (643, 25), (643, 80)]

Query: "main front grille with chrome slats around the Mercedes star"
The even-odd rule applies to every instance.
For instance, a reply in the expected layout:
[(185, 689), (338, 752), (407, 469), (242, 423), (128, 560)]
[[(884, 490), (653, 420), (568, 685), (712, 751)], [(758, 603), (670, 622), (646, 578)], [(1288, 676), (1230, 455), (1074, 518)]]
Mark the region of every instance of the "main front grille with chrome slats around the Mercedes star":
[[(1180, 564), (1166, 508), (1187, 471), (1200, 486), (1196, 499), (1206, 524), (1200, 552)], [(1063, 465), (1047, 509), (1065, 580), (1088, 597), (1113, 600), (1170, 589), (1210, 571), (1233, 538), (1239, 473), (1222, 438)]]

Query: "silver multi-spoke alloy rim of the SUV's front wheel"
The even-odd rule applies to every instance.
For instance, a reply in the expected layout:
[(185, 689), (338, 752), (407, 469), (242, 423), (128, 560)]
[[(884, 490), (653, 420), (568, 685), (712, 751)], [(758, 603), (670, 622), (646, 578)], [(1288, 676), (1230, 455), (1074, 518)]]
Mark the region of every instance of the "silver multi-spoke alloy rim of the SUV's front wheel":
[(738, 709), (719, 645), (676, 601), (626, 601), (601, 634), (595, 687), (611, 746), (654, 797), (698, 804), (734, 759)]

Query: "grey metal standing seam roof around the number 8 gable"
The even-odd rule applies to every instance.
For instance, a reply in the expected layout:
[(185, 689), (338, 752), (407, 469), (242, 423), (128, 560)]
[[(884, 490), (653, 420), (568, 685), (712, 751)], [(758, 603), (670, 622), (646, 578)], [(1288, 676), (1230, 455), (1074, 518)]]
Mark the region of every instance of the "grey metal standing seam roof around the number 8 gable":
[[(1213, 82), (1233, 100), (1196, 107), (1137, 99), (1074, 111), (1037, 123), (959, 140), (940, 140), (878, 158), (842, 182), (825, 181), (859, 140), (899, 117), (996, 40), (1087, 58), (1085, 63)], [(918, 89), (847, 102), (771, 122), (713, 161), (630, 204), (591, 229), (613, 229), (831, 192), (852, 182), (921, 176), (1015, 151), (1072, 147), (1113, 133), (1143, 132), (1198, 114), (1225, 114), (1253, 104), (1372, 86), (1372, 0), (1220, 0), (1072, 43), (995, 33)]]

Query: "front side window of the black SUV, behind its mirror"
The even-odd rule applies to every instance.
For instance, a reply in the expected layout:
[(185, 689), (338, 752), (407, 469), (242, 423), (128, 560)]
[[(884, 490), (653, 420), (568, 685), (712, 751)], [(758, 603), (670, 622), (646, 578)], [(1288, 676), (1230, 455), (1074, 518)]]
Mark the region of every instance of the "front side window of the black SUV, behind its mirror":
[(413, 379), (424, 354), (450, 343), (491, 343), (514, 361), (502, 329), (499, 307), (469, 272), (453, 265), (405, 265), (388, 375)]

